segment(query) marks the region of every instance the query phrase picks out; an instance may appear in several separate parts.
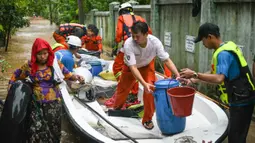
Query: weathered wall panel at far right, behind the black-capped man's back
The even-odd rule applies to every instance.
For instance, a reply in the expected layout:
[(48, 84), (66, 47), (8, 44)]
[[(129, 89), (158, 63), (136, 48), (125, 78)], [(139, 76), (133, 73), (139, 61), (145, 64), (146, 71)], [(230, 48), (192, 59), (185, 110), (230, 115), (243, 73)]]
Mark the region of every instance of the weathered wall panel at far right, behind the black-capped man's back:
[(223, 40), (241, 45), (251, 68), (255, 53), (255, 3), (215, 2), (215, 22), (221, 28)]

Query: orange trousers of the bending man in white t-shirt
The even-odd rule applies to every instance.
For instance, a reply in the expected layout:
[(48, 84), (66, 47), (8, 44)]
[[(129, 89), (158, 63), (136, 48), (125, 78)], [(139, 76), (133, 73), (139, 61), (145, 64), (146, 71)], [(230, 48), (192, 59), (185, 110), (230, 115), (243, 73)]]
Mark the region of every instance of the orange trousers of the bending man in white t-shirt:
[[(138, 68), (138, 70), (147, 83), (154, 85), (154, 82), (156, 81), (154, 60), (152, 60), (149, 65)], [(133, 76), (129, 67), (124, 64), (122, 69), (122, 75), (120, 76), (120, 81), (117, 85), (116, 97), (113, 105), (114, 109), (120, 109), (123, 106), (123, 104), (126, 102), (129, 91), (132, 89), (135, 83), (135, 77)], [(142, 123), (152, 120), (152, 116), (155, 111), (154, 97), (152, 93), (147, 93), (144, 91), (143, 103), (144, 116)]]

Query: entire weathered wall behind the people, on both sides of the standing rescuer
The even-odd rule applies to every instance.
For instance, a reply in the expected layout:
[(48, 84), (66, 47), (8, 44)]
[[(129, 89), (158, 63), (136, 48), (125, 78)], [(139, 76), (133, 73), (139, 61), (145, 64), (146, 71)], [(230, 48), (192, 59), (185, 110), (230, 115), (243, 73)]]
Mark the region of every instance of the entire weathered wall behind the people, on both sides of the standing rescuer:
[[(118, 7), (119, 2), (113, 2), (109, 4), (109, 11), (92, 10), (85, 18), (86, 24), (97, 25), (104, 43), (109, 46), (115, 37)], [(151, 0), (151, 5), (134, 5), (135, 14), (146, 19), (179, 69), (210, 70), (213, 51), (202, 43), (193, 47), (187, 39), (192, 38), (187, 35), (196, 37), (199, 26), (205, 22), (219, 25), (223, 40), (241, 45), (251, 67), (255, 53), (255, 0), (202, 0), (196, 17), (192, 17), (192, 8), (192, 0)], [(167, 32), (171, 33), (170, 38)]]

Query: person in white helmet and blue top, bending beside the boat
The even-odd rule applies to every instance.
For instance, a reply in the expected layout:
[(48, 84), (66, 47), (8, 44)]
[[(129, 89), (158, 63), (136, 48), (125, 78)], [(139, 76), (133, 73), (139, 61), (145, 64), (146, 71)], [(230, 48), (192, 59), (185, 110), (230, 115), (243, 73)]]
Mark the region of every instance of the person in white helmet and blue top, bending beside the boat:
[(73, 59), (73, 55), (77, 53), (79, 48), (81, 47), (81, 39), (77, 36), (68, 36), (67, 38), (68, 49), (62, 49), (55, 52), (58, 60), (64, 64), (64, 66), (70, 71), (73, 72), (73, 68), (75, 67), (75, 62)]

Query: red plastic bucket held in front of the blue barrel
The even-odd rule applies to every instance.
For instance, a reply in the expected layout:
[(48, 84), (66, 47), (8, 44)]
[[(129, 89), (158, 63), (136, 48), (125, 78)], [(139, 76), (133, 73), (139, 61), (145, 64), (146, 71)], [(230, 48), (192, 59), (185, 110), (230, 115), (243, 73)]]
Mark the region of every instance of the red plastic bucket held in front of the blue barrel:
[(191, 115), (196, 90), (191, 87), (174, 87), (167, 90), (173, 114), (178, 117)]

